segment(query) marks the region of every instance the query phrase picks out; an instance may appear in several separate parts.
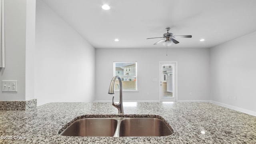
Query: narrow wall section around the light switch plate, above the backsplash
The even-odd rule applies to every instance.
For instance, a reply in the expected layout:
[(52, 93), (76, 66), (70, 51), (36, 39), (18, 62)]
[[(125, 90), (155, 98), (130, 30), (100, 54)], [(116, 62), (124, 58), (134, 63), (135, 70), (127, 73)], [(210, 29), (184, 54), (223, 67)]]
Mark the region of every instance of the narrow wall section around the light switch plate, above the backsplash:
[(2, 80), (18, 80), (18, 92), (0, 92), (0, 100), (26, 100), (26, 0), (5, 0), (5, 68)]

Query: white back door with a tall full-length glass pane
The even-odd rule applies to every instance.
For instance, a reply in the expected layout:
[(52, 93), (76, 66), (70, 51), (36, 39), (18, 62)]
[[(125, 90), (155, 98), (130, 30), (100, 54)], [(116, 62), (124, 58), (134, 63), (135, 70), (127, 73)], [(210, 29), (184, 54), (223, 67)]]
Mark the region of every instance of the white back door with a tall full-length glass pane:
[(159, 92), (161, 102), (176, 102), (177, 62), (159, 62)]

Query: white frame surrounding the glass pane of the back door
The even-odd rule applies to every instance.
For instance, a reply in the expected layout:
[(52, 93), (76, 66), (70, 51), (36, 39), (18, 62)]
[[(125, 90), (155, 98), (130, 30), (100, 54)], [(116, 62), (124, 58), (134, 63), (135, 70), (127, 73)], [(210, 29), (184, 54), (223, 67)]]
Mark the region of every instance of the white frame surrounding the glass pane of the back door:
[[(173, 98), (162, 98), (162, 65), (173, 65)], [(159, 61), (159, 100), (160, 102), (177, 102), (178, 101), (178, 62), (176, 61)]]

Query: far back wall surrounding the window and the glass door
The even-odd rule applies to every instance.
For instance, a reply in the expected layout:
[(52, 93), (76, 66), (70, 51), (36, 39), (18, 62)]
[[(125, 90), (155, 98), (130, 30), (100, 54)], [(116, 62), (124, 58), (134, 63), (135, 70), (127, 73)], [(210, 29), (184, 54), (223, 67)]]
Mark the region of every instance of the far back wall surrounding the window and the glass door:
[[(124, 101), (159, 100), (159, 61), (178, 62), (178, 100), (210, 100), (209, 56), (209, 49), (203, 48), (169, 48), (168, 56), (165, 48), (96, 48), (96, 100), (112, 100), (113, 95), (108, 94), (108, 88), (113, 77), (114, 61), (138, 62), (139, 92), (124, 92)], [(119, 97), (118, 94), (115, 96)]]

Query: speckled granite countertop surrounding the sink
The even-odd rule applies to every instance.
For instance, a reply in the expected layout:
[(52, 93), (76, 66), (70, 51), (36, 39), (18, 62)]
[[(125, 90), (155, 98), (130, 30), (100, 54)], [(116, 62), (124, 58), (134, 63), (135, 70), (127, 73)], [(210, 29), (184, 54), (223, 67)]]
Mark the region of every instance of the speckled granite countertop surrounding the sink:
[[(125, 114), (163, 117), (174, 130), (160, 137), (72, 137), (58, 131), (77, 116), (117, 115), (111, 103), (49, 103), (30, 110), (0, 111), (1, 144), (256, 144), (256, 117), (207, 102), (138, 102)], [(204, 131), (205, 133), (201, 133)], [(6, 140), (2, 136), (12, 136)], [(14, 139), (15, 136), (15, 139)], [(5, 137), (6, 138), (6, 137)]]

